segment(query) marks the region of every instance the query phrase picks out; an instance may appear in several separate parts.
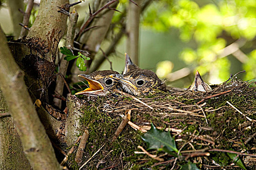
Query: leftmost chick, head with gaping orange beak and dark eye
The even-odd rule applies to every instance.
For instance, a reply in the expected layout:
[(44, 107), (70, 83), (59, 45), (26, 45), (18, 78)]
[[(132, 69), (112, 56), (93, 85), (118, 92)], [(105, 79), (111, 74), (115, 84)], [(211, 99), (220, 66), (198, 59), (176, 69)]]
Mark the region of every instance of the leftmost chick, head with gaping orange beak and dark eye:
[(75, 95), (105, 96), (113, 89), (121, 89), (120, 83), (109, 76), (111, 74), (118, 74), (118, 72), (112, 70), (100, 70), (94, 71), (89, 75), (79, 74), (78, 77), (85, 79), (88, 82), (89, 87), (77, 92)]

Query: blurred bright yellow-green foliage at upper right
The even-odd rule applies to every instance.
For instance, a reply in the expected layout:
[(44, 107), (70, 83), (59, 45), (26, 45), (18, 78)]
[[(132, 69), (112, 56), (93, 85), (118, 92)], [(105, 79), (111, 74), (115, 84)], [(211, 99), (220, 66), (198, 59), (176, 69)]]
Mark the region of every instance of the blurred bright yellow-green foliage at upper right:
[[(153, 1), (142, 25), (156, 32), (178, 29), (179, 39), (193, 44), (179, 57), (202, 75), (208, 73), (212, 81), (229, 77), (232, 65), (227, 56), (235, 52), (246, 70), (244, 79), (256, 77), (256, 0)], [(225, 48), (229, 45), (232, 48)]]

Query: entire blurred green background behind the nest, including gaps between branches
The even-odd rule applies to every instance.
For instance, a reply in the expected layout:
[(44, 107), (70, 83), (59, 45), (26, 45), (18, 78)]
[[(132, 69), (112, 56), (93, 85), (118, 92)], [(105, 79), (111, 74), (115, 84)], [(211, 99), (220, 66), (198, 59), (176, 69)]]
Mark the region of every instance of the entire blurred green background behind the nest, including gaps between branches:
[[(135, 0), (136, 1), (136, 0)], [(76, 6), (79, 20), (88, 10), (84, 1)], [(120, 0), (123, 11), (127, 0)], [(33, 22), (37, 10), (31, 16)], [(121, 13), (115, 12), (113, 23)], [(12, 34), (8, 8), (1, 6), (0, 23)], [(241, 70), (242, 80), (256, 78), (256, 0), (153, 0), (140, 18), (139, 67), (157, 72), (167, 84), (188, 87), (198, 70), (210, 84), (219, 84)], [(118, 30), (118, 26), (112, 27)], [(124, 36), (109, 56), (113, 68), (124, 68)], [(104, 40), (104, 50), (111, 38)], [(96, 55), (100, 55), (100, 52)], [(104, 61), (99, 69), (110, 69)]]

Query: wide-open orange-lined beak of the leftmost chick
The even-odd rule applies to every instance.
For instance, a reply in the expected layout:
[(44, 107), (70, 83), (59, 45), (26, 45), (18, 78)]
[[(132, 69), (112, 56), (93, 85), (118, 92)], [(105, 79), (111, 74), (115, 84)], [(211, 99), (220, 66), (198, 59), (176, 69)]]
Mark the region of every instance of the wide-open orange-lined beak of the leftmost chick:
[(84, 78), (87, 82), (89, 87), (85, 90), (77, 92), (75, 95), (79, 94), (91, 94), (91, 95), (99, 95), (103, 92), (104, 87), (97, 81), (93, 80), (90, 75), (86, 74), (79, 74), (78, 77)]

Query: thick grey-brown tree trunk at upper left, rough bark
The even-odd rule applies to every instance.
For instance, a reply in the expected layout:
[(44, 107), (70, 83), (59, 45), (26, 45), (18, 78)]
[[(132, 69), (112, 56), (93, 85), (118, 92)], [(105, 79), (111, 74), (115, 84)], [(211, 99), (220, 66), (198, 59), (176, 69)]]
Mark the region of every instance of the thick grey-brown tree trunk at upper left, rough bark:
[(69, 10), (68, 3), (68, 0), (41, 0), (38, 16), (26, 37), (28, 42), (41, 46), (43, 59), (49, 62), (55, 62), (59, 40), (66, 30), (67, 15), (59, 13), (58, 7)]

